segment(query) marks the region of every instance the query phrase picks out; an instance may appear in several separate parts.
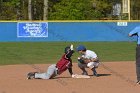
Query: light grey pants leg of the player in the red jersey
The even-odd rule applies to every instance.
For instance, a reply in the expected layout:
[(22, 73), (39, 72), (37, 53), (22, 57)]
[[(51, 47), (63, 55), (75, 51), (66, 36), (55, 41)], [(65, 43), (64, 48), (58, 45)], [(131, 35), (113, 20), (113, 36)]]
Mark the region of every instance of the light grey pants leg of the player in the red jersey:
[(53, 64), (48, 67), (47, 72), (45, 73), (36, 73), (35, 78), (40, 78), (40, 79), (51, 79), (57, 75), (57, 70), (56, 70), (56, 65)]

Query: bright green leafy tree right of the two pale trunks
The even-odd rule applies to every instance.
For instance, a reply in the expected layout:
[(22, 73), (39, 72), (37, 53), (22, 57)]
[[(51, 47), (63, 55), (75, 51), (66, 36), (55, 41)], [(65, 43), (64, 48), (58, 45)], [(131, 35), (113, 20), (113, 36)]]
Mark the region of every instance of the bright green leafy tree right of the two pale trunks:
[[(93, 7), (93, 3), (96, 4)], [(91, 20), (106, 17), (111, 6), (103, 0), (61, 0), (49, 8), (49, 19)]]

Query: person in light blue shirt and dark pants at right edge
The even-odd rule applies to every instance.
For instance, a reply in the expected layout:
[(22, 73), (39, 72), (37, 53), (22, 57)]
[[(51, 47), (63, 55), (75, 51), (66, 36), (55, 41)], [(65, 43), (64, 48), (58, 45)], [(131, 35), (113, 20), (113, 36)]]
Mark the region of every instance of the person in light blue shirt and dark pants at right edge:
[(136, 47), (136, 73), (137, 73), (137, 84), (140, 84), (140, 26), (133, 29), (129, 36), (137, 36), (137, 47)]

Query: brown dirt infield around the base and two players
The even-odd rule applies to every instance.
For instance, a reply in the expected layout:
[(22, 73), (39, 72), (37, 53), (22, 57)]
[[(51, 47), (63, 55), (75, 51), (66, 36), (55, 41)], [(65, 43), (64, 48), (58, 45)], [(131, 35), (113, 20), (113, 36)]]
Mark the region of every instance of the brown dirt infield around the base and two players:
[[(64, 72), (56, 79), (26, 80), (29, 71), (45, 71), (49, 64), (0, 66), (0, 93), (139, 93), (134, 62), (105, 62), (99, 77), (73, 79)], [(75, 63), (74, 73), (81, 71)], [(89, 75), (92, 72), (88, 70)]]

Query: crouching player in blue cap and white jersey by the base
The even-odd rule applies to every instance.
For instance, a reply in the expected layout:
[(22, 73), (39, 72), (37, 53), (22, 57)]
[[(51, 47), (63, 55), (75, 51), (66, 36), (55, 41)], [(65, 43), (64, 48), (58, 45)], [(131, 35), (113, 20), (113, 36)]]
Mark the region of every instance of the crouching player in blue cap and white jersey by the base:
[(96, 68), (99, 66), (99, 59), (94, 51), (87, 50), (85, 46), (79, 45), (76, 50), (81, 54), (78, 57), (78, 67), (83, 71), (82, 75), (88, 75), (85, 68), (93, 71), (93, 76), (98, 76)]

